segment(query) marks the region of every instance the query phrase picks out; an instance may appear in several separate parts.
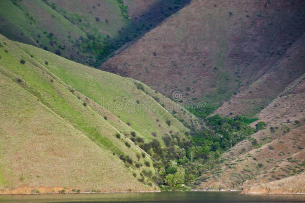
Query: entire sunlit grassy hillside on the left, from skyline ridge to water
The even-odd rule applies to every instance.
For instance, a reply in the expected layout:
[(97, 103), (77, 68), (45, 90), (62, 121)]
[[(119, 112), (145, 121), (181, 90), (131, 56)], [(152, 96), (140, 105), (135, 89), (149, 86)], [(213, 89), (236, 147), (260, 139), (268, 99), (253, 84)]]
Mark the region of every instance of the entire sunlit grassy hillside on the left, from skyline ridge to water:
[(1, 193), (152, 190), (138, 145), (189, 131), (128, 79), (3, 36), (0, 74)]

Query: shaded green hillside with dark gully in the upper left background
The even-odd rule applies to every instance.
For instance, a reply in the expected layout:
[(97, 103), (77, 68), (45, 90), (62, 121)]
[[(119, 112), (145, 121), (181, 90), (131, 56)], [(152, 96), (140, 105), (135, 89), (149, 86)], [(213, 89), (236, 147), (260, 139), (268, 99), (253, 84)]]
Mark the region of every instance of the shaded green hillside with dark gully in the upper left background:
[(97, 66), (111, 52), (146, 33), (189, 1), (3, 0), (0, 34)]

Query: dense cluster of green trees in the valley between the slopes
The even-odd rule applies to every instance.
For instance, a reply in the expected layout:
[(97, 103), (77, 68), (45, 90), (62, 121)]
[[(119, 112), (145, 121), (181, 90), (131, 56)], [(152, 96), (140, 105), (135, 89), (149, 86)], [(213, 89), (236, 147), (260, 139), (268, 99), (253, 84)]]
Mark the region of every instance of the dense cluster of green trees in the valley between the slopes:
[(200, 174), (211, 169), (211, 162), (219, 163), (221, 153), (254, 132), (243, 116), (215, 115), (206, 118), (205, 122), (209, 130), (191, 131), (186, 137), (179, 133), (164, 135), (165, 147), (157, 139), (139, 145), (154, 159), (153, 166), (158, 174), (152, 179), (161, 187), (178, 189), (196, 184)]

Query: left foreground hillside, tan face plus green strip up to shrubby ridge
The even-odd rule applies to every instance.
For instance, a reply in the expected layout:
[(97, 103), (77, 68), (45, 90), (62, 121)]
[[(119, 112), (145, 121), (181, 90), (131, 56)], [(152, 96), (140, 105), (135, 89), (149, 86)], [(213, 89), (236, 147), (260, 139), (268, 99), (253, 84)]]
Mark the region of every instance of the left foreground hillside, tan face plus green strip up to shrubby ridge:
[[(154, 173), (149, 155), (137, 158), (136, 154), (145, 152), (119, 132), (124, 129), (130, 133), (133, 129), (120, 124), (118, 118), (111, 119), (113, 115), (109, 111), (99, 108), (109, 115), (112, 121), (108, 122), (90, 107), (88, 98), (71, 91), (67, 84), (4, 37), (1, 37), (0, 56), (2, 188), (20, 185), (66, 185), (82, 191), (151, 188), (144, 185), (151, 185), (150, 178), (139, 175), (144, 169)], [(142, 136), (136, 133), (136, 137)], [(53, 153), (61, 162), (51, 161)], [(125, 163), (119, 156), (125, 157)], [(77, 162), (78, 159), (81, 161)], [(150, 162), (150, 166), (145, 166), (144, 161)], [(63, 162), (66, 166), (61, 166)], [(135, 162), (140, 167), (135, 167)], [(40, 174), (35, 174), (38, 171)], [(46, 178), (38, 181), (35, 179), (38, 176)], [(110, 184), (112, 181), (115, 183)]]

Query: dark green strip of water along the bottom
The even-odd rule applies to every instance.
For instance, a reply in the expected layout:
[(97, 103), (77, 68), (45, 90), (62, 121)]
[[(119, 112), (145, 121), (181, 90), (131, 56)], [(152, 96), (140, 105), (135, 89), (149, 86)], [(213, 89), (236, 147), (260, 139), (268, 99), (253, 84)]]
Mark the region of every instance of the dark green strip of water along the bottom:
[(245, 195), (238, 192), (158, 192), (104, 194), (40, 194), (0, 196), (0, 202), (305, 202), (305, 195)]

